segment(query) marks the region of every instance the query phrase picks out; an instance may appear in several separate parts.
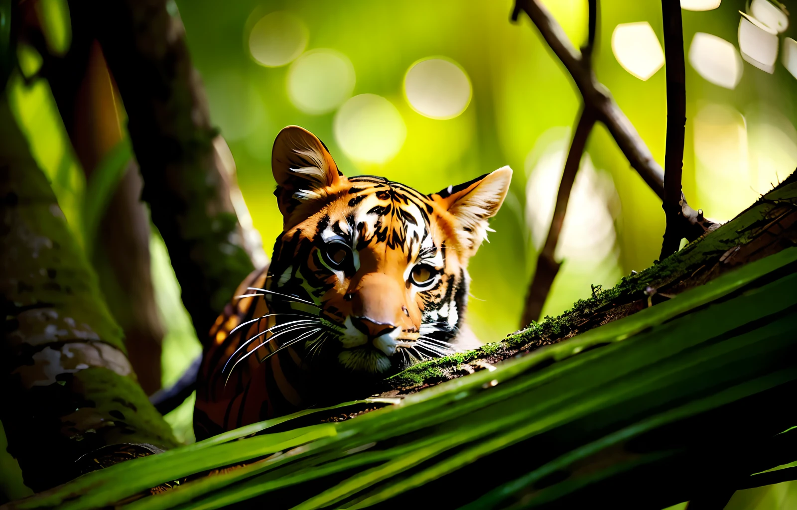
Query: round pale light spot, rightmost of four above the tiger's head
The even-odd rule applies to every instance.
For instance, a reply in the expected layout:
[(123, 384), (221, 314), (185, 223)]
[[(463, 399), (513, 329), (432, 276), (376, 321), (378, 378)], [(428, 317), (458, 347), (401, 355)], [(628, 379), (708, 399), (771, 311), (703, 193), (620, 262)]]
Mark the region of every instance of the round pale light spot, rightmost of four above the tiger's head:
[(410, 66), (404, 77), (410, 106), (431, 119), (451, 119), (465, 112), (472, 89), (465, 71), (452, 61), (429, 58)]

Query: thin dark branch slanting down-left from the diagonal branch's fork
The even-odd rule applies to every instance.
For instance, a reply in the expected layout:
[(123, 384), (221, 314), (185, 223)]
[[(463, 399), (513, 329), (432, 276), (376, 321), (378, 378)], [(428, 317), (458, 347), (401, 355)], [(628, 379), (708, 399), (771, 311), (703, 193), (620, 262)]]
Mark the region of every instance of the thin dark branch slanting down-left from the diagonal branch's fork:
[(534, 278), (528, 287), (526, 304), (523, 309), (522, 325), (531, 324), (532, 320), (539, 320), (545, 300), (551, 285), (559, 273), (561, 265), (554, 258), (556, 245), (559, 243), (559, 234), (562, 232), (564, 214), (567, 212), (567, 202), (570, 200), (570, 192), (573, 189), (575, 175), (579, 171), (581, 155), (584, 147), (587, 146), (587, 139), (590, 131), (595, 125), (595, 111), (591, 108), (584, 108), (579, 118), (579, 123), (573, 133), (573, 141), (570, 144), (570, 151), (567, 153), (567, 161), (564, 163), (562, 181), (559, 183), (559, 191), (556, 194), (556, 207), (553, 211), (551, 227), (548, 229), (548, 237), (545, 245), (537, 256), (537, 266), (534, 270)]

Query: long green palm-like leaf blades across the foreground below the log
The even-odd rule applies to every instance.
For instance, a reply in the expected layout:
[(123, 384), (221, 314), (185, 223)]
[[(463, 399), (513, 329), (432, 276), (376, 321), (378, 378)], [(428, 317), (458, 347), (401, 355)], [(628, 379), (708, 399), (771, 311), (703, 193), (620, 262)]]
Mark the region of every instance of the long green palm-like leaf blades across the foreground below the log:
[[(241, 462), (251, 463), (128, 508), (221, 508), (267, 492), (275, 508), (365, 508), (444, 490), (473, 508), (582, 508), (595, 497), (642, 508), (628, 498), (643, 492), (644, 508), (663, 508), (694, 495), (707, 462), (744, 477), (797, 457), (795, 430), (778, 435), (794, 411), (768, 408), (797, 385), (795, 269), (797, 248), (786, 249), (397, 406), (247, 437), (324, 416), (304, 411), (90, 473), (16, 508), (96, 508)], [(467, 489), (447, 490), (451, 473)]]

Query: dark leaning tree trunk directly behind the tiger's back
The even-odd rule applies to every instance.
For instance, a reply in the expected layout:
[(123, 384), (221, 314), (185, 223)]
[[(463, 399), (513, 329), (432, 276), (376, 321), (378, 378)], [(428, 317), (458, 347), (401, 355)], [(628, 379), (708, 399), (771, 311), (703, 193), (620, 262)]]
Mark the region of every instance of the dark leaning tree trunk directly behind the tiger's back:
[(88, 20), (128, 112), (152, 221), (166, 242), (200, 339), (235, 286), (267, 260), (236, 216), (234, 175), (214, 147), (207, 100), (179, 16), (166, 0), (70, 2)]

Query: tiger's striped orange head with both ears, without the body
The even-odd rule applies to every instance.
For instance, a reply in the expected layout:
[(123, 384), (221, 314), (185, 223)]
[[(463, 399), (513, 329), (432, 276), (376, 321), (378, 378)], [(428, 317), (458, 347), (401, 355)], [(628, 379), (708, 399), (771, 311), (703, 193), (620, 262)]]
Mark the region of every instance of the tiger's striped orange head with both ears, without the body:
[(385, 375), (453, 352), (468, 260), (512, 170), (421, 194), (381, 177), (347, 178), (297, 126), (277, 135), (272, 170), (284, 225), (264, 290), (304, 361)]

